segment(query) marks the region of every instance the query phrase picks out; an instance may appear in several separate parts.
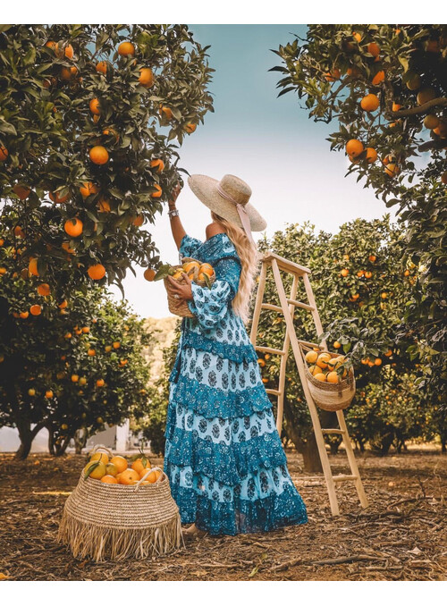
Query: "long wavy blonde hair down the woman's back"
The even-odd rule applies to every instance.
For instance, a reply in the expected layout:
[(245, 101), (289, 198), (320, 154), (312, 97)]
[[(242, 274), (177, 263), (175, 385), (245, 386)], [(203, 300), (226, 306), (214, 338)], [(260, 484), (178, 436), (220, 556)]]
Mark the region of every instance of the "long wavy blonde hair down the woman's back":
[(215, 222), (222, 224), (240, 258), (242, 269), (240, 272), (239, 288), (234, 299), (232, 299), (232, 308), (242, 318), (243, 322), (247, 324), (249, 321), (250, 296), (255, 285), (255, 274), (257, 273), (257, 246), (250, 242), (245, 231), (239, 225), (236, 225), (236, 223), (232, 223), (232, 221), (216, 215), (214, 211), (211, 211), (211, 216)]

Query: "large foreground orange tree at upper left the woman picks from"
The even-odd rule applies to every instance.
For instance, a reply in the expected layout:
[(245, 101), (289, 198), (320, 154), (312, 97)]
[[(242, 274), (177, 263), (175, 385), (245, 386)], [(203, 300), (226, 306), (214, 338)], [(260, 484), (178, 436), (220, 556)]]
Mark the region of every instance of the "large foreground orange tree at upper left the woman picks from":
[(31, 261), (55, 287), (71, 265), (82, 284), (120, 286), (132, 264), (158, 265), (140, 228), (212, 110), (206, 51), (185, 25), (0, 26), (0, 198), (21, 230), (17, 271)]

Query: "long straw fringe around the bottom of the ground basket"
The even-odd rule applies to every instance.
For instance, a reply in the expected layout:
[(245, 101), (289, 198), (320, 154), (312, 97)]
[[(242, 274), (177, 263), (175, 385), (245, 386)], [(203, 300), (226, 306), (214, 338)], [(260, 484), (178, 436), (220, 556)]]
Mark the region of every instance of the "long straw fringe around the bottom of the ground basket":
[(82, 522), (63, 511), (57, 542), (67, 544), (73, 557), (81, 560), (142, 560), (180, 549), (181, 518), (176, 515), (161, 526), (148, 528), (110, 528)]

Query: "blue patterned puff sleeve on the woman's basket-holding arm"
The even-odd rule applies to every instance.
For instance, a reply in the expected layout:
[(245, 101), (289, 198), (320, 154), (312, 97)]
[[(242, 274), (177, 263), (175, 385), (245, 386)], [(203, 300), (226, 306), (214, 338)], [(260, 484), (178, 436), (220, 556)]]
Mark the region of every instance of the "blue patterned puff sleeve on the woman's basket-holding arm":
[(188, 301), (190, 312), (198, 319), (202, 331), (212, 330), (228, 311), (239, 287), (240, 261), (234, 257), (217, 261), (215, 282), (211, 289), (192, 282), (192, 297)]

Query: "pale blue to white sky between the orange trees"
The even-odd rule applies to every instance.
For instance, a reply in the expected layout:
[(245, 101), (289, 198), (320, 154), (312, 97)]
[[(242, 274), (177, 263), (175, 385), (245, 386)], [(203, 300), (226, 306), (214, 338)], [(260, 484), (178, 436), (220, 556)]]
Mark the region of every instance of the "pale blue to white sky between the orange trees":
[[(374, 219), (389, 212), (373, 189), (356, 182), (357, 175), (344, 177), (349, 161), (342, 152), (331, 152), (325, 140), (337, 123), (325, 124), (308, 118), (293, 93), (277, 97), (279, 72), (268, 72), (281, 63), (277, 50), (306, 36), (306, 25), (190, 25), (194, 38), (211, 45), (208, 63), (215, 69), (209, 90), (215, 113), (184, 139), (179, 165), (190, 174), (206, 174), (220, 180), (237, 175), (252, 189), (250, 203), (267, 223), (267, 237), (283, 230), (286, 223), (315, 224), (331, 233), (342, 223), (361, 217)], [(206, 206), (188, 184), (177, 200), (181, 221), (190, 236), (205, 240), (210, 223)], [(169, 217), (165, 211), (153, 234), (164, 263), (178, 263)], [(262, 235), (254, 233), (255, 240)], [(299, 263), (299, 258), (293, 259)], [(123, 282), (125, 298), (144, 317), (165, 317), (167, 307), (163, 281), (146, 282), (144, 268), (135, 267)], [(112, 287), (117, 299), (120, 291)]]

